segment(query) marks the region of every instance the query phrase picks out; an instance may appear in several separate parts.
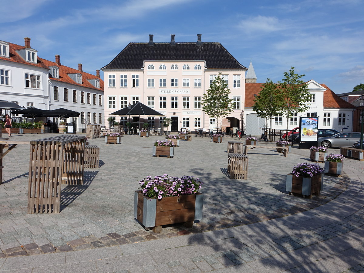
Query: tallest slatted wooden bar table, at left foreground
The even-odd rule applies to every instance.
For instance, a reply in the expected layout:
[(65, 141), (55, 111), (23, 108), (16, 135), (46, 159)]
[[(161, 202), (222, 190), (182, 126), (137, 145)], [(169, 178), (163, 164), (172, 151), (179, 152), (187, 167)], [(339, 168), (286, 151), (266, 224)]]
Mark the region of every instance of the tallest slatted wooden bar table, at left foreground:
[(31, 141), (28, 214), (59, 213), (61, 184), (83, 183), (84, 135)]

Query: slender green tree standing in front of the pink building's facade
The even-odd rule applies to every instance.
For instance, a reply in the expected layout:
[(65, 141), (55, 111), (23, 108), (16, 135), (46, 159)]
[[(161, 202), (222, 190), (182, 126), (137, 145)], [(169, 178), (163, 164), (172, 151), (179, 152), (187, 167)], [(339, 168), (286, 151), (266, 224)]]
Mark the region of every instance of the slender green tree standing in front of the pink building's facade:
[(227, 86), (227, 83), (221, 77), (221, 72), (219, 72), (219, 75), (212, 81), (201, 100), (202, 110), (210, 117), (216, 118), (217, 127), (219, 118), (229, 115), (234, 109), (233, 99), (229, 98), (230, 89)]

